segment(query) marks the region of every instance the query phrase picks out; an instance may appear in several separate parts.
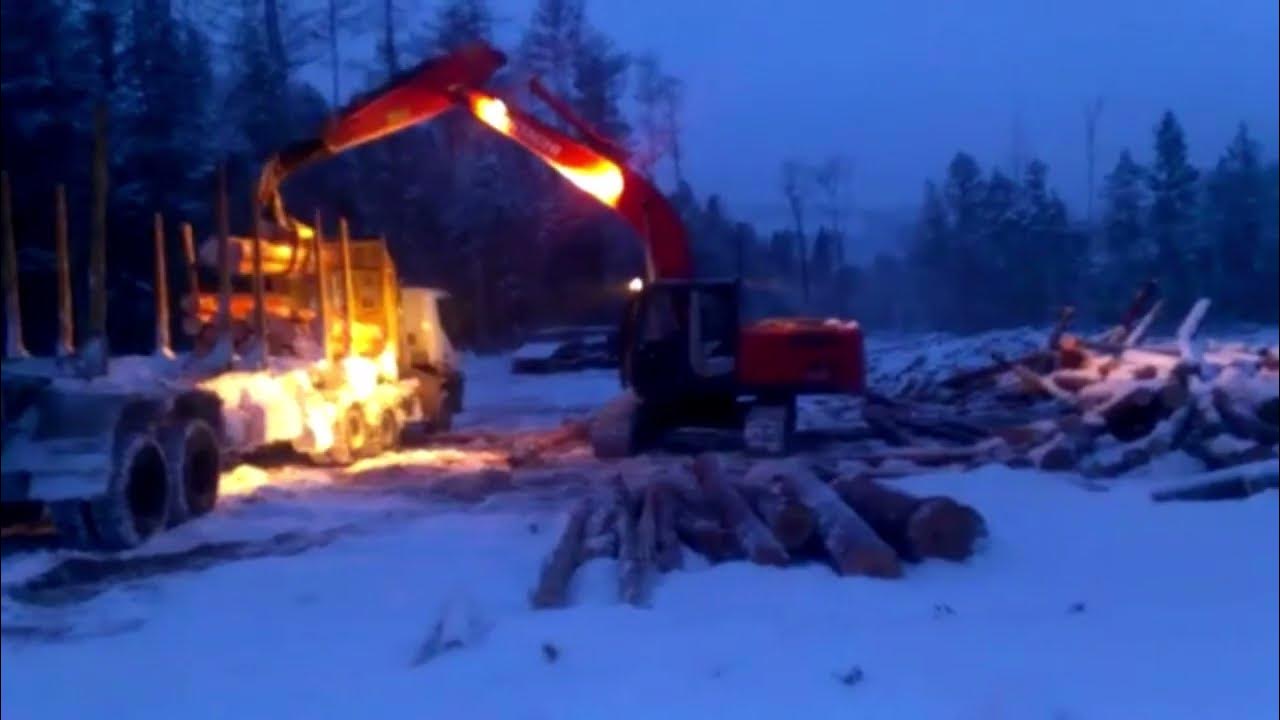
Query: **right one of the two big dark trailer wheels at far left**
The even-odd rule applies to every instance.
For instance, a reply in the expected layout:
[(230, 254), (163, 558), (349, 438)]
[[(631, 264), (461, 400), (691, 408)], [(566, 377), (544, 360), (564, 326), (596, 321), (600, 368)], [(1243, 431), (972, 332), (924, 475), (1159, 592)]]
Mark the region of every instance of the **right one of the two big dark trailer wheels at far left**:
[(169, 465), (169, 524), (198, 518), (218, 502), (221, 448), (205, 420), (189, 419), (161, 430), (160, 446)]

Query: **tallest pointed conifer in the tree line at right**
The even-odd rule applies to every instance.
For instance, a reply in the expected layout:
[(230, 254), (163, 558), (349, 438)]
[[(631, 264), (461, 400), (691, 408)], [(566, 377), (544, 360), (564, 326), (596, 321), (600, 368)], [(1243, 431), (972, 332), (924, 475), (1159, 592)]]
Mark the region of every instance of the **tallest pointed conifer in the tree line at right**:
[(1199, 173), (1187, 161), (1187, 140), (1178, 118), (1166, 111), (1156, 126), (1156, 160), (1148, 176), (1151, 236), (1165, 295), (1185, 306), (1197, 292), (1193, 282), (1196, 181)]

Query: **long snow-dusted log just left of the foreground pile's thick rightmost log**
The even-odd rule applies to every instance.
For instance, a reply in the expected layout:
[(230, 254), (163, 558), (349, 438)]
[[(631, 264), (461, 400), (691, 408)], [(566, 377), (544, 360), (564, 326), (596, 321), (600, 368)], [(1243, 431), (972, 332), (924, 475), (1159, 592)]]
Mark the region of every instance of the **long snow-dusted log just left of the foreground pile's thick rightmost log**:
[(758, 464), (751, 474), (785, 484), (809, 509), (838, 574), (874, 578), (902, 575), (902, 566), (893, 548), (812, 470), (794, 461), (773, 461)]

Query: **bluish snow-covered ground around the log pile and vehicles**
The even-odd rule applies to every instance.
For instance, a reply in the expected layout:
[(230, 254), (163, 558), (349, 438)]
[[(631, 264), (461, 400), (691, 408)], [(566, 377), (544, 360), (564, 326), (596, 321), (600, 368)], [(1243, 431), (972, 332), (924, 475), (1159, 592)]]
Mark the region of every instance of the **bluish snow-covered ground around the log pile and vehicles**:
[[(1274, 337), (1274, 333), (1272, 333)], [(897, 338), (963, 363), (983, 343)], [(1034, 342), (1034, 341), (1033, 341)], [(980, 361), (980, 356), (979, 356)], [(616, 392), (611, 372), (512, 377), (472, 359), (460, 427), (553, 427)], [(6, 552), (5, 717), (1276, 717), (1276, 493), (1148, 500), (1176, 457), (1087, 492), (983, 468), (901, 480), (979, 509), (989, 544), (896, 582), (823, 566), (699, 566), (649, 609), (611, 561), (575, 606), (531, 611), (563, 497), (548, 480), (477, 503), (426, 492), (484, 450), (348, 474), (241, 470), (211, 516), (116, 565)], [(470, 480), (468, 480), (470, 482)], [(421, 492), (419, 492), (421, 491)], [(72, 564), (68, 565), (67, 561)], [(59, 565), (61, 562), (61, 565)], [(60, 574), (44, 574), (51, 568)], [(114, 571), (115, 575), (104, 578)], [(123, 575), (124, 579), (120, 579)], [(419, 661), (444, 619), (462, 647)]]

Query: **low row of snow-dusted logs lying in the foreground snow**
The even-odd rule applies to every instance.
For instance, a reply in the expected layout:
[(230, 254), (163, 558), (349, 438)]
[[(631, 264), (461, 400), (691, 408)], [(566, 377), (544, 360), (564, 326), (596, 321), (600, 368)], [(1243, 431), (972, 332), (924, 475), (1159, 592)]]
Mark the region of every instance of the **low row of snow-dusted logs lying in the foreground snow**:
[(568, 602), (577, 566), (618, 561), (618, 596), (645, 605), (659, 573), (685, 553), (710, 562), (758, 565), (826, 561), (840, 575), (899, 578), (902, 562), (961, 561), (987, 536), (983, 518), (947, 497), (914, 497), (865, 478), (831, 482), (792, 460), (730, 468), (700, 455), (687, 473), (628, 486), (616, 478), (605, 497), (580, 501), (548, 555), (530, 602)]

